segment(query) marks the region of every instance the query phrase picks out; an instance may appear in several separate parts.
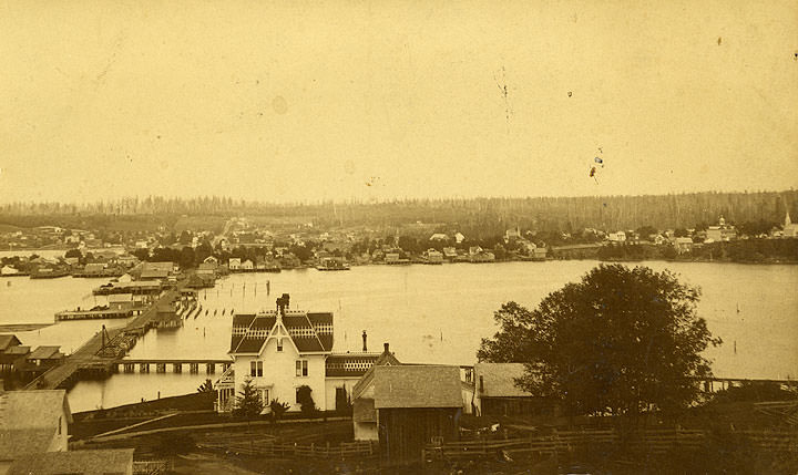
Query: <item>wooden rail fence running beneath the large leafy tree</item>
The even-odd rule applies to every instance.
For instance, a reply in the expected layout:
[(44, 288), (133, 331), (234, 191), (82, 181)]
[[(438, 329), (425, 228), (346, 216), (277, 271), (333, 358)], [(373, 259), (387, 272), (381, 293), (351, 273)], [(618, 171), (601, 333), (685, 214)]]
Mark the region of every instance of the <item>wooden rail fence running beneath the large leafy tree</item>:
[[(744, 437), (753, 448), (798, 452), (798, 432), (738, 431), (730, 434)], [(469, 441), (429, 444), (422, 450), (423, 461), (477, 458), (513, 454), (565, 453), (580, 447), (610, 447), (624, 443), (635, 452), (664, 454), (675, 447), (699, 448), (705, 444), (706, 431), (681, 428), (647, 430), (631, 434), (625, 441), (615, 431), (555, 431), (551, 435), (497, 441)]]

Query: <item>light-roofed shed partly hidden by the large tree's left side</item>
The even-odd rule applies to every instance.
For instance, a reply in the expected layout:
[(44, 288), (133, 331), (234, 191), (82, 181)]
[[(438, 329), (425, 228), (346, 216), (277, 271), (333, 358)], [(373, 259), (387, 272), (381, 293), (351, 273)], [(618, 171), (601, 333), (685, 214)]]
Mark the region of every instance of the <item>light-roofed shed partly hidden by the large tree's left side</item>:
[(548, 397), (536, 397), (515, 385), (524, 373), (522, 363), (477, 363), (473, 368), (473, 405), (479, 415), (556, 415)]

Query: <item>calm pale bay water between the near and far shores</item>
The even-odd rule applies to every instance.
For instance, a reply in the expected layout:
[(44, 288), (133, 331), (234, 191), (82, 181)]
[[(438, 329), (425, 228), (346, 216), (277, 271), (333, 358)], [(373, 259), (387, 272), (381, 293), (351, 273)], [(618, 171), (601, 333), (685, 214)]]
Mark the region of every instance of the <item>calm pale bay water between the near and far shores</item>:
[[(180, 330), (151, 331), (139, 340), (131, 357), (225, 358), (232, 310), (272, 309), (276, 297), (287, 292), (291, 308), (335, 312), (335, 351), (360, 351), (360, 334), (366, 330), (370, 351), (381, 350), (387, 341), (401, 361), (473, 364), (480, 339), (497, 330), (493, 311), (502, 302), (515, 300), (534, 307), (549, 292), (580, 279), (596, 265), (551, 261), (370, 266), (344, 272), (304, 269), (234, 275), (219, 280), (216, 288), (201, 291), (203, 311), (197, 319), (186, 320)], [(671, 269), (684, 281), (702, 288), (698, 312), (710, 331), (724, 340), (720, 348), (706, 353), (714, 361), (717, 375), (779, 379), (798, 375), (798, 267), (645, 265), (655, 270)], [(91, 289), (102, 283), (72, 278), (3, 280), (11, 280), (12, 285), (7, 287), (0, 280), (0, 323), (52, 321), (58, 310), (93, 304)], [(104, 301), (98, 298), (98, 303)], [(61, 344), (69, 352), (103, 323), (121, 326), (124, 321), (62, 322), (17, 334), (23, 344)], [(85, 411), (142, 397), (151, 400), (158, 394), (184, 394), (204, 381), (203, 371), (117, 374), (104, 382), (80, 382), (70, 392), (70, 404), (73, 411)]]

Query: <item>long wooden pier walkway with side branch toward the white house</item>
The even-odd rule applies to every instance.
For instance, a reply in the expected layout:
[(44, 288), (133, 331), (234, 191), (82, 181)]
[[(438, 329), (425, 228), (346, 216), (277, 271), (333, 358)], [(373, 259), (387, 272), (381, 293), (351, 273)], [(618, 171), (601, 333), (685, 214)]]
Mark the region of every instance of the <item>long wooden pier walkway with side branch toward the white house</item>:
[[(156, 324), (156, 318), (157, 318), (157, 309), (160, 306), (165, 303), (171, 303), (180, 296), (180, 291), (185, 285), (187, 279), (184, 279), (177, 283), (177, 286), (174, 289), (170, 289), (165, 291), (161, 298), (158, 298), (157, 301), (155, 301), (153, 304), (150, 306), (150, 308), (144, 311), (142, 314), (136, 317), (135, 319), (131, 320), (125, 327), (123, 328), (116, 328), (116, 329), (109, 329), (106, 330), (106, 343), (109, 341), (113, 342), (116, 340), (117, 337), (122, 335), (131, 335), (131, 338), (137, 338), (143, 335), (147, 332), (151, 328), (153, 328)], [(101, 372), (111, 372), (112, 369), (115, 370), (115, 365), (117, 364), (135, 364), (135, 363), (152, 363), (152, 364), (165, 364), (166, 362), (172, 364), (178, 364), (182, 362), (187, 362), (190, 364), (192, 363), (205, 363), (207, 364), (208, 372), (213, 372), (211, 370), (211, 364), (215, 363), (223, 363), (222, 361), (193, 361), (193, 360), (185, 360), (182, 361), (180, 359), (168, 360), (164, 362), (156, 362), (155, 360), (146, 361), (146, 360), (123, 360), (119, 358), (117, 354), (101, 354), (103, 353), (103, 334), (102, 332), (98, 332), (94, 337), (92, 337), (89, 341), (86, 341), (81, 348), (79, 348), (76, 351), (74, 351), (72, 354), (66, 357), (62, 364), (59, 364), (58, 366), (54, 366), (50, 369), (49, 371), (41, 374), (35, 380), (31, 381), (25, 389), (28, 390), (53, 390), (53, 389), (66, 389), (70, 388), (78, 379), (79, 373), (84, 371), (101, 371)], [(231, 361), (232, 362), (232, 361)], [(158, 366), (160, 368), (160, 366)], [(193, 366), (192, 366), (193, 368)], [(181, 366), (182, 369), (182, 366)], [(177, 370), (177, 366), (175, 366), (175, 370)]]

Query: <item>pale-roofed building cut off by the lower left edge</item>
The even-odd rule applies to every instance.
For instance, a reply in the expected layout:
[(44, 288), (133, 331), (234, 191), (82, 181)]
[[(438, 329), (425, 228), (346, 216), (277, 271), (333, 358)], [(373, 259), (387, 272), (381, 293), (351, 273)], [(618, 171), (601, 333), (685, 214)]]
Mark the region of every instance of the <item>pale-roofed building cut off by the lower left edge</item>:
[(66, 451), (71, 423), (64, 390), (0, 392), (0, 473), (20, 458)]

